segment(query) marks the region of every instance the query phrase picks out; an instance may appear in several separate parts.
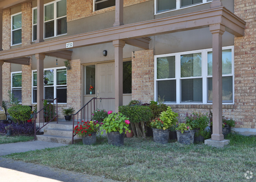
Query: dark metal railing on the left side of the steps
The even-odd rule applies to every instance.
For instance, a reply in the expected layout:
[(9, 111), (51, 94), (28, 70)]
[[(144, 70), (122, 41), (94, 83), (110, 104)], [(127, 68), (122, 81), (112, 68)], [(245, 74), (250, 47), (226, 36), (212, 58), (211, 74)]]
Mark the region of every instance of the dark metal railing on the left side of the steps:
[[(55, 100), (56, 100), (56, 103), (54, 103)], [(56, 113), (54, 112), (54, 107), (56, 107)], [(43, 114), (43, 117), (42, 117), (42, 114)], [(34, 123), (35, 123), (35, 140), (36, 140), (36, 133), (40, 129), (45, 127), (46, 124), (48, 124), (49, 122), (51, 122), (55, 119), (58, 123), (58, 99), (54, 98), (54, 100), (50, 101), (40, 111), (38, 111), (37, 113), (33, 113), (32, 115), (34, 115), (33, 118), (34, 118)], [(36, 119), (38, 119), (38, 123), (39, 123), (38, 124), (38, 129), (36, 129)]]

